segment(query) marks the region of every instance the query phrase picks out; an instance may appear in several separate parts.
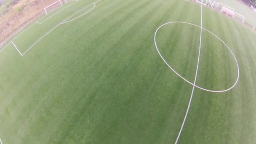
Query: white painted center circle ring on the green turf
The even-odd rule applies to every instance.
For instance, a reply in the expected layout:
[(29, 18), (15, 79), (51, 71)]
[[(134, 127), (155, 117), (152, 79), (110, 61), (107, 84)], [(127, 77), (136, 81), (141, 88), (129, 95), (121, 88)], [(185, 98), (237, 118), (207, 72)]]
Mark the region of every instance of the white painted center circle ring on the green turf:
[[(155, 40), (155, 47), (156, 47), (156, 49), (157, 49), (157, 52), (158, 52), (158, 54), (160, 55), (160, 57), (163, 59), (163, 61), (165, 62), (165, 64), (166, 64), (176, 75), (178, 75), (179, 77), (181, 77), (181, 78), (182, 78), (183, 80), (185, 80), (187, 83), (189, 83), (189, 84), (191, 84), (191, 85), (194, 85), (193, 83), (191, 83), (190, 81), (188, 81), (187, 79), (185, 79), (184, 77), (182, 77), (181, 75), (179, 75), (179, 73), (176, 72), (176, 71), (165, 61), (165, 59), (163, 58), (163, 56), (161, 55), (161, 53), (160, 53), (160, 51), (159, 51), (159, 49), (158, 49), (158, 47), (157, 47), (156, 35), (157, 35), (158, 30), (159, 30), (161, 27), (163, 27), (163, 26), (165, 26), (165, 25), (167, 25), (167, 24), (173, 24), (173, 23), (190, 24), (190, 25), (193, 25), (193, 26), (196, 26), (196, 27), (199, 27), (199, 28), (201, 28), (201, 27), (198, 26), (198, 25), (196, 25), (196, 24), (191, 24), (191, 23), (188, 23), (188, 22), (172, 21), (172, 22), (168, 22), (168, 23), (162, 24), (160, 27), (158, 27), (157, 30), (156, 30), (156, 32), (155, 32), (155, 37), (154, 37), (154, 40)], [(236, 82), (234, 83), (234, 85), (232, 85), (230, 88), (228, 88), (228, 89), (226, 89), (226, 90), (221, 90), (221, 91), (208, 90), (208, 89), (205, 89), (205, 88), (201, 88), (200, 86), (197, 86), (197, 85), (195, 85), (195, 87), (197, 87), (197, 88), (199, 88), (199, 89), (201, 89), (201, 90), (209, 91), (209, 92), (213, 92), (213, 93), (221, 93), (221, 92), (229, 91), (229, 90), (231, 90), (232, 88), (235, 87), (235, 85), (237, 84), (237, 82), (238, 82), (238, 80), (239, 80), (240, 71), (239, 71), (239, 66), (238, 66), (237, 59), (235, 58), (234, 53), (233, 53), (233, 52), (231, 51), (231, 49), (227, 46), (227, 44), (224, 43), (223, 40), (221, 40), (218, 36), (216, 36), (215, 34), (213, 34), (212, 32), (210, 32), (209, 30), (207, 30), (207, 29), (205, 29), (205, 28), (203, 28), (203, 27), (202, 27), (202, 29), (204, 29), (205, 31), (207, 31), (207, 32), (211, 33), (212, 35), (214, 35), (216, 38), (218, 38), (218, 39), (229, 49), (230, 53), (231, 53), (232, 56), (234, 57), (235, 62), (236, 62), (236, 64), (237, 64), (237, 80), (236, 80)]]

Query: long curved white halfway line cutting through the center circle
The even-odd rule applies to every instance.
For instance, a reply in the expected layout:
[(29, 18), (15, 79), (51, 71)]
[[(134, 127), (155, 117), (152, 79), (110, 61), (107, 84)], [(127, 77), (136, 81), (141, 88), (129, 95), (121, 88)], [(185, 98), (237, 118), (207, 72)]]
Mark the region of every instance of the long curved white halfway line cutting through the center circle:
[(177, 136), (177, 139), (176, 139), (176, 141), (175, 141), (175, 144), (178, 143), (179, 137), (181, 136), (181, 132), (182, 132), (182, 129), (183, 129), (184, 124), (185, 124), (185, 122), (186, 122), (187, 115), (188, 115), (188, 113), (189, 113), (189, 108), (190, 108), (190, 105), (191, 105), (191, 101), (192, 101), (192, 98), (193, 98), (193, 95), (194, 95), (195, 84), (196, 84), (196, 81), (197, 81), (197, 73), (198, 73), (199, 61), (200, 61), (200, 53), (201, 53), (202, 26), (203, 26), (203, 6), (201, 5), (201, 32), (200, 32), (200, 44), (199, 44), (199, 53), (198, 53), (198, 60), (197, 60), (197, 69), (196, 69), (196, 72), (195, 72), (195, 81), (194, 81), (194, 85), (193, 85), (193, 88), (192, 88), (192, 93), (191, 93), (191, 96), (190, 96), (189, 105), (188, 105), (188, 107), (187, 107), (187, 112), (186, 112), (186, 115), (185, 115), (185, 117), (184, 117), (183, 123), (182, 123), (182, 125), (181, 125), (181, 129), (180, 129), (180, 131), (179, 131), (179, 135)]

